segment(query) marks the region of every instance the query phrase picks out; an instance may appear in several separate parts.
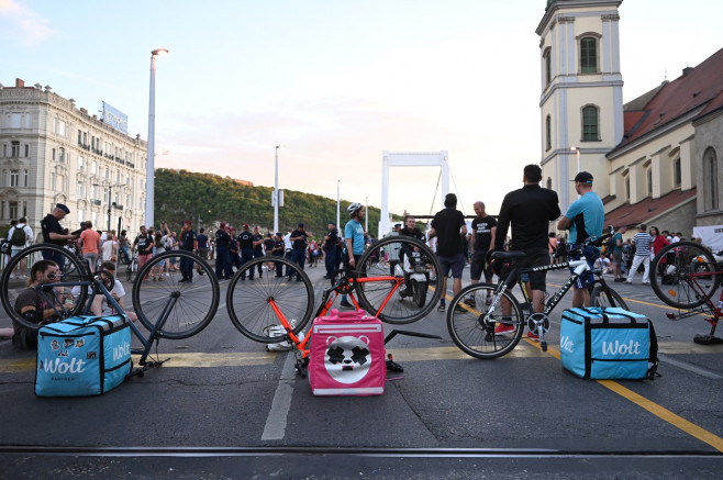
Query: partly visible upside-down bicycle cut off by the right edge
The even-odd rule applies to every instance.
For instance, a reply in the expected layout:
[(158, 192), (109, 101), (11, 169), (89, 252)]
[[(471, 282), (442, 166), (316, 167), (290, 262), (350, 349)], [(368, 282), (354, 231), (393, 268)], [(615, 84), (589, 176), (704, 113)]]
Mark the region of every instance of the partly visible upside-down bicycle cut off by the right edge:
[(666, 316), (681, 320), (701, 314), (711, 324), (708, 335), (693, 337), (697, 344), (723, 343), (715, 336), (715, 327), (723, 316), (723, 291), (718, 305), (713, 300), (722, 278), (723, 250), (713, 254), (693, 242), (666, 245), (650, 263), (653, 291), (663, 302), (679, 309), (678, 313), (667, 312)]

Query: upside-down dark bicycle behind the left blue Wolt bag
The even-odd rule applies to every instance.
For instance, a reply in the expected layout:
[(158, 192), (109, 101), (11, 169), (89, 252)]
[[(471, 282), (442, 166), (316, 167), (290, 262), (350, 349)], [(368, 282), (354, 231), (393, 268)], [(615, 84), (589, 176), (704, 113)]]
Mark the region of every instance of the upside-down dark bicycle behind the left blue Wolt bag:
[[(2, 276), (0, 276), (0, 284), (2, 284), (2, 288), (0, 288), (0, 301), (13, 322), (18, 322), (31, 330), (37, 330), (42, 326), (30, 322), (14, 310), (15, 299), (29, 287), (26, 283), (23, 283), (22, 279), (10, 279), (12, 269), (9, 267), (14, 267), (23, 258), (30, 265), (33, 265), (41, 259), (43, 252), (45, 252), (46, 256), (47, 254), (57, 254), (64, 259), (63, 264), (65, 267), (62, 269), (60, 281), (35, 287), (48, 304), (54, 305), (54, 308), (58, 305), (56, 309), (58, 320), (88, 314), (92, 300), (98, 294), (104, 295), (113, 309), (125, 315), (125, 311), (110, 294), (110, 290), (115, 282), (111, 274), (99, 271), (90, 275), (87, 269), (87, 263), (81, 261), (82, 259), (79, 259), (66, 248), (38, 244), (21, 250), (11, 259), (8, 267), (2, 271)], [(192, 265), (193, 267), (198, 265), (205, 274), (202, 277), (203, 280), (196, 283), (179, 283), (176, 277), (171, 276), (164, 282), (141, 280), (154, 266), (170, 257), (191, 261), (194, 264)], [(140, 275), (132, 289), (132, 310), (137, 315), (138, 322), (148, 330), (148, 336), (145, 337), (133, 322), (129, 322), (129, 324), (131, 331), (142, 345), (142, 348), (133, 349), (132, 353), (141, 355), (138, 365), (143, 367), (142, 371), (145, 371), (147, 368), (159, 366), (166, 361), (147, 359), (154, 343), (157, 350), (160, 338), (187, 338), (198, 334), (208, 326), (218, 310), (220, 291), (215, 276), (208, 264), (190, 252), (167, 252), (152, 258), (141, 269)], [(60, 299), (67, 295), (65, 290), (73, 287), (80, 288), (76, 289), (77, 294), (74, 298), (74, 302), (71, 304), (65, 304)]]

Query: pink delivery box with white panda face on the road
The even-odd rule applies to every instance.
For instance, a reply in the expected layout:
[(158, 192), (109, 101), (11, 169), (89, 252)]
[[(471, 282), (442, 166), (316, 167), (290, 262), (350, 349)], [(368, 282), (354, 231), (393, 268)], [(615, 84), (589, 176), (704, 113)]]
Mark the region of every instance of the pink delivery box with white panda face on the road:
[(387, 364), (385, 331), (363, 310), (314, 319), (309, 383), (314, 395), (380, 395)]

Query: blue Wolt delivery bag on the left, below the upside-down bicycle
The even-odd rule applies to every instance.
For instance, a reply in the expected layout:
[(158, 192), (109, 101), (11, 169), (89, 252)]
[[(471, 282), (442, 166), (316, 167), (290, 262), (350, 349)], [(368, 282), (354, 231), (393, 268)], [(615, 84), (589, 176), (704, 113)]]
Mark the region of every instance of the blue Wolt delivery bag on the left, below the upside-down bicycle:
[(124, 316), (73, 316), (37, 331), (37, 397), (100, 395), (131, 372)]

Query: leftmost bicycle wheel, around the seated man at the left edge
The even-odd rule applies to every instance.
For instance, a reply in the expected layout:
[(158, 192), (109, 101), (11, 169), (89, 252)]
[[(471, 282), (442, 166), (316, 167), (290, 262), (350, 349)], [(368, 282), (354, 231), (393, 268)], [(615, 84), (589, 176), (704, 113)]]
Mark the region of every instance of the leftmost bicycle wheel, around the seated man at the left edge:
[[(0, 284), (2, 284), (2, 288), (0, 288), (2, 306), (12, 320), (33, 330), (38, 328), (40, 325), (25, 320), (15, 312), (14, 305), (18, 295), (27, 289), (32, 266), (44, 258), (54, 259), (57, 264), (62, 264), (60, 271), (63, 271), (63, 277), (57, 282), (77, 283), (90, 280), (85, 261), (63, 247), (49, 244), (32, 245), (12, 257), (0, 277)], [(70, 286), (56, 287), (53, 291), (45, 292), (45, 294), (54, 300), (60, 293), (71, 293), (71, 290), (73, 287)], [(86, 305), (88, 298), (87, 288), (78, 288), (74, 292), (74, 306), (66, 310), (69, 316), (79, 314)]]

